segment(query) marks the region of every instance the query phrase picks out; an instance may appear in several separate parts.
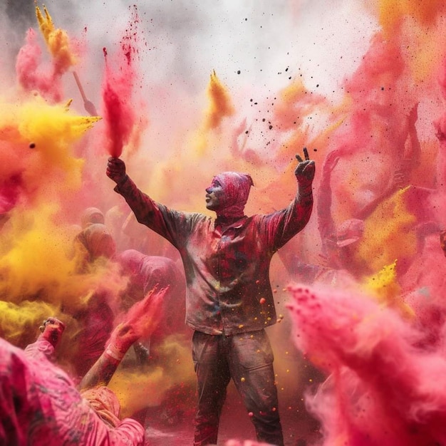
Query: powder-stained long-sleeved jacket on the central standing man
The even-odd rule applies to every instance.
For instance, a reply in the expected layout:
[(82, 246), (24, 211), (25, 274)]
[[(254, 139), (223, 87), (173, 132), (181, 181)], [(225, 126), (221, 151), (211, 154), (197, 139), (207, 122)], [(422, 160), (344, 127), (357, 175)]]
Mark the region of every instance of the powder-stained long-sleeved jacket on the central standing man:
[(276, 323), (269, 265), (273, 254), (304, 229), (312, 195), (271, 214), (241, 217), (226, 227), (204, 214), (179, 212), (153, 201), (127, 177), (115, 191), (138, 222), (180, 251), (187, 282), (186, 323), (227, 336)]

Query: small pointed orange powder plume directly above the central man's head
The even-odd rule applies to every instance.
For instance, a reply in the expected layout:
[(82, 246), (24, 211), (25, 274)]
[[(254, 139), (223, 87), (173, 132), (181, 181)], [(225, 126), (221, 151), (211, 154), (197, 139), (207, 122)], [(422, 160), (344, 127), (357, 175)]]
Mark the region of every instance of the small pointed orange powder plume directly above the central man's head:
[(206, 130), (217, 128), (222, 119), (234, 114), (234, 107), (227, 88), (217, 78), (217, 73), (212, 71), (207, 87), (209, 108), (207, 110)]

